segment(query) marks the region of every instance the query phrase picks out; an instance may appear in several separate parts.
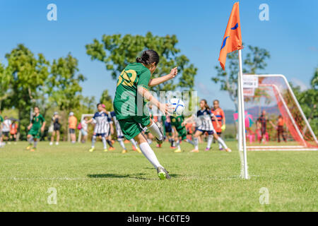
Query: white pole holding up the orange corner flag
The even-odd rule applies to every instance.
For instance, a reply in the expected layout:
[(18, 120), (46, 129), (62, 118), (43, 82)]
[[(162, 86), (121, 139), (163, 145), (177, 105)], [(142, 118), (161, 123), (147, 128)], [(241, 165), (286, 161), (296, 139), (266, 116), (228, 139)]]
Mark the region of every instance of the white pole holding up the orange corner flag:
[(240, 109), (239, 109), (239, 112), (241, 114), (240, 118), (241, 118), (241, 124), (242, 124), (241, 134), (242, 134), (243, 155), (244, 155), (244, 177), (245, 177), (245, 179), (249, 179), (249, 176), (247, 173), (247, 150), (246, 150), (245, 109), (244, 109), (244, 95), (243, 95), (242, 49), (238, 50), (238, 54), (239, 54), (239, 69), (240, 69), (239, 78), (240, 79), (238, 80), (238, 87), (237, 88), (240, 89), (240, 96), (239, 96)]

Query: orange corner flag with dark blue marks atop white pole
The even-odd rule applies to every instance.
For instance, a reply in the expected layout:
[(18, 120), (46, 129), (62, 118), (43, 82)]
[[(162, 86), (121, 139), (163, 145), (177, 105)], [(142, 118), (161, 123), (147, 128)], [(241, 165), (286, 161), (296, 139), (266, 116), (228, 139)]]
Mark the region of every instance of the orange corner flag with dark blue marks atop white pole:
[(220, 66), (223, 70), (225, 70), (226, 54), (237, 49), (242, 49), (242, 35), (239, 3), (235, 2), (232, 8), (230, 19), (228, 20), (228, 25), (226, 26), (222, 46), (220, 49), (220, 57), (218, 57), (218, 61), (220, 61)]

